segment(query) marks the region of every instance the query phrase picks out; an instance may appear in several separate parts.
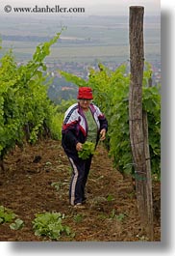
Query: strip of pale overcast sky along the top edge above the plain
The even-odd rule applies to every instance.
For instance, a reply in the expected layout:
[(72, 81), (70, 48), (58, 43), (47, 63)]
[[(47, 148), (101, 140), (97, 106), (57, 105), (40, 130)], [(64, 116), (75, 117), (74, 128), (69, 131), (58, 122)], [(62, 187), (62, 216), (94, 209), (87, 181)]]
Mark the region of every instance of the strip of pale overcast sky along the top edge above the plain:
[(1, 0), (1, 12), (3, 7), (82, 7), (86, 8), (86, 14), (128, 14), (129, 6), (143, 6), (146, 14), (160, 14), (161, 0)]

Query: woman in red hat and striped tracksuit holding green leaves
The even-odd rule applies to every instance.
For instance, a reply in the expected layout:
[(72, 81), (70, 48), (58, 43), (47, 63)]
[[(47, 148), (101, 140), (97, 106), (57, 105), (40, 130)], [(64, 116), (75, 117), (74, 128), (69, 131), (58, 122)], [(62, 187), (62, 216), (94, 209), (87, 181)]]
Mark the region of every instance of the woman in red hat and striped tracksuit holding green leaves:
[(100, 109), (91, 103), (92, 90), (89, 87), (80, 87), (78, 103), (71, 105), (64, 115), (62, 145), (68, 156), (73, 172), (69, 188), (69, 200), (73, 206), (81, 207), (86, 202), (85, 186), (90, 169), (91, 158), (82, 159), (78, 152), (83, 150), (86, 141), (104, 140), (108, 122)]

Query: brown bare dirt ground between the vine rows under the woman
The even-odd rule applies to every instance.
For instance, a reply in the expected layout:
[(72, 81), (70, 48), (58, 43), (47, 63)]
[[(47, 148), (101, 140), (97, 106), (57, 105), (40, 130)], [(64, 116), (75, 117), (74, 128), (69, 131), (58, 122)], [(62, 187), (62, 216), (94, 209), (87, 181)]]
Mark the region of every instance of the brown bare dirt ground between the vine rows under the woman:
[[(64, 224), (75, 234), (60, 241), (146, 241), (137, 216), (135, 190), (112, 168), (112, 160), (103, 147), (93, 157), (87, 183), (87, 205), (75, 210), (68, 203), (71, 169), (61, 143), (48, 140), (26, 146), (5, 160), (6, 172), (0, 170), (0, 205), (12, 209), (25, 225), (13, 231), (0, 224), (0, 241), (43, 241), (35, 236), (32, 221), (36, 213), (60, 212)], [(54, 183), (55, 186), (53, 185)], [(160, 185), (154, 185), (155, 241), (161, 240)]]

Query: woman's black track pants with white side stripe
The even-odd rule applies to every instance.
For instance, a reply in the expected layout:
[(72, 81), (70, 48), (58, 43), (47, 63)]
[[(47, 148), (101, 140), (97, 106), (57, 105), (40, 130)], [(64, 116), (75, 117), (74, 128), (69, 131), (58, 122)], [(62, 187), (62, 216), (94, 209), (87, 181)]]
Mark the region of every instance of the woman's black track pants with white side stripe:
[(83, 160), (78, 156), (68, 157), (72, 166), (72, 177), (69, 188), (69, 200), (71, 205), (82, 203), (85, 198), (85, 187), (90, 169), (91, 158)]

